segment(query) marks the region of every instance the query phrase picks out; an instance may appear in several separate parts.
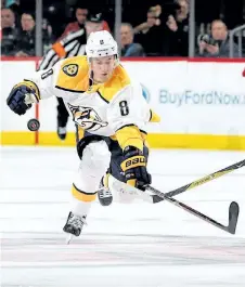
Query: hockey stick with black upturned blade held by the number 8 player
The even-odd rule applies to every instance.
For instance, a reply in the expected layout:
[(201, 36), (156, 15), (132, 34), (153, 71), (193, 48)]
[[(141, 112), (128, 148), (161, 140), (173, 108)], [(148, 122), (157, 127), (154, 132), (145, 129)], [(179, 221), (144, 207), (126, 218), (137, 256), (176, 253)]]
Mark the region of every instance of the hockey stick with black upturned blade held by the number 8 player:
[(237, 220), (238, 220), (238, 213), (240, 213), (240, 207), (238, 207), (237, 203), (235, 203), (235, 201), (231, 203), (230, 208), (229, 208), (229, 223), (228, 223), (228, 226), (225, 226), (225, 225), (222, 225), (221, 223), (215, 221), (214, 219), (201, 213), (199, 211), (191, 208), (190, 206), (186, 206), (183, 203), (180, 203), (172, 197), (168, 197), (167, 194), (164, 194), (164, 193), (157, 191), (156, 188), (154, 188), (152, 186), (147, 186), (146, 190), (151, 191), (152, 193), (156, 194), (158, 197), (167, 200), (168, 203), (170, 203), (170, 204), (188, 211), (189, 213), (206, 221), (207, 223), (210, 223), (211, 225), (214, 225), (220, 230), (223, 230), (228, 233), (235, 234), (235, 229), (236, 229), (236, 224), (237, 224)]

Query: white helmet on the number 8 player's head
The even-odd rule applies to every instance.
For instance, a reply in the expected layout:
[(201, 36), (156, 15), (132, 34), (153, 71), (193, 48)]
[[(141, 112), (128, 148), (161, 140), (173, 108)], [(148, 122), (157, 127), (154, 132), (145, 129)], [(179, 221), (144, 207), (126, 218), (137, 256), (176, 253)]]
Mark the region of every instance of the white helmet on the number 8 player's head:
[(109, 55), (118, 56), (117, 42), (106, 30), (91, 32), (87, 41), (86, 54), (88, 58)]

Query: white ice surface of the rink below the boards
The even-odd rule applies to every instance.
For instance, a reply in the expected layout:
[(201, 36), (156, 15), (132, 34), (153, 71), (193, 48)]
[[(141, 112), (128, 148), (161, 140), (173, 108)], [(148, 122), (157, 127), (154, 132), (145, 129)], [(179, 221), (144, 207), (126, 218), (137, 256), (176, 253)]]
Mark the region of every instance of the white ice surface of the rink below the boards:
[[(152, 151), (152, 185), (168, 192), (244, 158)], [(245, 168), (176, 197), (222, 224), (237, 201), (235, 235), (169, 203), (94, 203), (88, 226), (67, 246), (62, 227), (78, 162), (75, 148), (1, 148), (0, 286), (245, 286)]]

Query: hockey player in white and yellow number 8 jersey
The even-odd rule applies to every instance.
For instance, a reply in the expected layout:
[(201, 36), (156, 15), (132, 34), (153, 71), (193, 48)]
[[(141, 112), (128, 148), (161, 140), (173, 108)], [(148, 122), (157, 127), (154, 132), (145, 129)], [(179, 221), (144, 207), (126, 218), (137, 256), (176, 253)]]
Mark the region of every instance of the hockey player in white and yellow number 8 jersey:
[(92, 32), (86, 53), (37, 71), (14, 86), (7, 100), (18, 115), (40, 100), (53, 95), (64, 100), (77, 128), (80, 165), (63, 230), (76, 236), (80, 235), (106, 172), (101, 188), (105, 198), (109, 174), (141, 190), (151, 183), (145, 125), (159, 121), (142, 96), (141, 86), (119, 64), (117, 43), (109, 32)]

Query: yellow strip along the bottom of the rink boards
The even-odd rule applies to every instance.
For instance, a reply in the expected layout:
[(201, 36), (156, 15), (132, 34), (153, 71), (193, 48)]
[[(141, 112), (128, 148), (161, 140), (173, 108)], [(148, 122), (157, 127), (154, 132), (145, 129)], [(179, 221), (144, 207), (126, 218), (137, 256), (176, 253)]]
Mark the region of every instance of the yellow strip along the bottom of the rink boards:
[[(69, 132), (61, 142), (55, 132), (2, 132), (2, 145), (41, 145), (41, 146), (75, 146), (75, 133)], [(245, 151), (245, 136), (209, 135), (209, 134), (160, 134), (150, 133), (149, 145), (152, 148), (192, 148)]]

